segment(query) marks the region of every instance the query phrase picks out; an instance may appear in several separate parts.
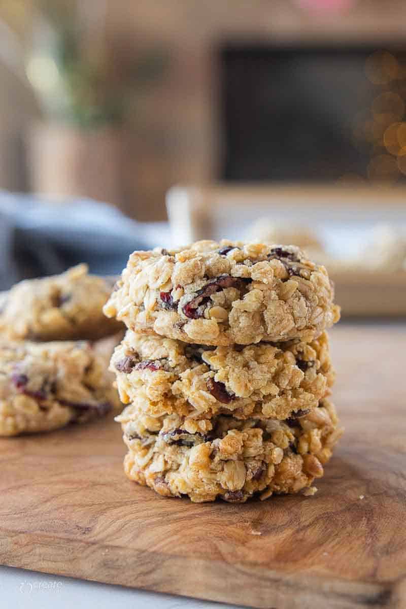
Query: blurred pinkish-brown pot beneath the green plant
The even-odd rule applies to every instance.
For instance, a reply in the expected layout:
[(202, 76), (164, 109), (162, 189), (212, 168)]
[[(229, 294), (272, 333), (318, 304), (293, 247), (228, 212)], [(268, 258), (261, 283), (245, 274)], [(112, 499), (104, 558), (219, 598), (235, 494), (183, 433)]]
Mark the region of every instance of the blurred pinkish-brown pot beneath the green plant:
[(86, 131), (57, 123), (30, 128), (27, 160), (34, 192), (90, 197), (121, 206), (121, 159), (119, 130)]

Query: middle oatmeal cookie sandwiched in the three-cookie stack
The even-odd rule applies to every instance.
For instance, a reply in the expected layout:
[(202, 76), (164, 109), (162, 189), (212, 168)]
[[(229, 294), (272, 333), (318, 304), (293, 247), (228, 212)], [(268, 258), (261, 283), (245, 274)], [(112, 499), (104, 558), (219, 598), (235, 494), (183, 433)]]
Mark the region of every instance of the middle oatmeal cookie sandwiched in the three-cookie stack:
[(191, 418), (285, 419), (317, 407), (334, 381), (325, 332), (310, 343), (210, 348), (128, 330), (110, 370), (124, 404)]

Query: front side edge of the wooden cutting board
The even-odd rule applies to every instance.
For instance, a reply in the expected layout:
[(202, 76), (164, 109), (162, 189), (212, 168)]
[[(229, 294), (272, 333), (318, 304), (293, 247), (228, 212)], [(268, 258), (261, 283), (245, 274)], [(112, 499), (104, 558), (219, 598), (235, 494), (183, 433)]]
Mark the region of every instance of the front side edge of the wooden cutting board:
[[(2, 527), (0, 564), (257, 609), (402, 609), (406, 604), (406, 579), (377, 584), (282, 574), (254, 564), (191, 560)], [(123, 571), (123, 564), (131, 570)]]

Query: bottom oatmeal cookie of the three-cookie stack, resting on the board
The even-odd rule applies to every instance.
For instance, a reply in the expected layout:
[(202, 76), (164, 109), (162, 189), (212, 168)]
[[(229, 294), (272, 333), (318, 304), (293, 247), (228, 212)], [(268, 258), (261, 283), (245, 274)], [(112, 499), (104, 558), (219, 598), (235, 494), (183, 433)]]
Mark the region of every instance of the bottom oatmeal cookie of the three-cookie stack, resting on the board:
[(132, 409), (117, 417), (128, 447), (125, 473), (159, 495), (188, 495), (194, 502), (298, 493), (323, 476), (342, 432), (326, 399), (301, 418), (240, 421), (219, 415), (206, 421), (211, 430), (196, 431), (185, 429), (178, 415), (164, 417), (161, 424), (156, 419), (155, 429), (136, 431), (138, 415)]

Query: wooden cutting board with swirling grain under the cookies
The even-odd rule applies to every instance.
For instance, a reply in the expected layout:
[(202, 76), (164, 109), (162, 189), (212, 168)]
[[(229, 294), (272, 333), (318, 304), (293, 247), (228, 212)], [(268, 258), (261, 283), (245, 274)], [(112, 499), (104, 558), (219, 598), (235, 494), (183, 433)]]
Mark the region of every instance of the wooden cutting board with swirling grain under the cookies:
[(406, 607), (406, 327), (332, 331), (346, 426), (312, 497), (164, 499), (119, 425), (0, 441), (0, 563), (278, 609)]

